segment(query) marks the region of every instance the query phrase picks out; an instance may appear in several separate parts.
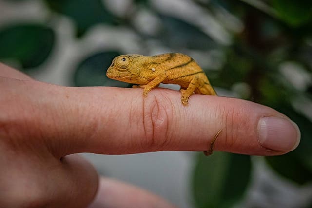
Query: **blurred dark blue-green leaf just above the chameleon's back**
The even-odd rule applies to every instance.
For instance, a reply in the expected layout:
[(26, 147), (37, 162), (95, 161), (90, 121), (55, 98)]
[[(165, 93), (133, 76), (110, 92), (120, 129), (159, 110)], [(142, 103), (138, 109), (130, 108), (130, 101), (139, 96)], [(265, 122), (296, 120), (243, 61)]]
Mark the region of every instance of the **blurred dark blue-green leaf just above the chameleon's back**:
[(218, 47), (218, 44), (198, 27), (181, 19), (160, 15), (163, 29), (159, 39), (175, 49), (207, 50)]

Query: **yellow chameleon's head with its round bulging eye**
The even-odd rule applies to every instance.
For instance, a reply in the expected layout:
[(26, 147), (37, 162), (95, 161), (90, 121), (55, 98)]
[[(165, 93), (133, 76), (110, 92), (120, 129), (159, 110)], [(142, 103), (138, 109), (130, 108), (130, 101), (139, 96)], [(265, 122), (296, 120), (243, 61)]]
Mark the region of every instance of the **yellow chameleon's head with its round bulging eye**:
[(136, 80), (136, 77), (139, 76), (140, 67), (133, 60), (136, 57), (142, 57), (142, 55), (131, 54), (115, 57), (106, 72), (106, 76), (119, 81), (140, 84)]

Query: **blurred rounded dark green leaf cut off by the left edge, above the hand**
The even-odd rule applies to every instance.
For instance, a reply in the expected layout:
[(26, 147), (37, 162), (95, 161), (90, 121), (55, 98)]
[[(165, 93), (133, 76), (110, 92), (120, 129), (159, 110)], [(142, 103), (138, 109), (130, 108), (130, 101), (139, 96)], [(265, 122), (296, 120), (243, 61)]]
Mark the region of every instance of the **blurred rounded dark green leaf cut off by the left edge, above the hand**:
[(0, 59), (20, 61), (24, 69), (39, 66), (50, 54), (53, 30), (41, 24), (18, 24), (0, 28)]

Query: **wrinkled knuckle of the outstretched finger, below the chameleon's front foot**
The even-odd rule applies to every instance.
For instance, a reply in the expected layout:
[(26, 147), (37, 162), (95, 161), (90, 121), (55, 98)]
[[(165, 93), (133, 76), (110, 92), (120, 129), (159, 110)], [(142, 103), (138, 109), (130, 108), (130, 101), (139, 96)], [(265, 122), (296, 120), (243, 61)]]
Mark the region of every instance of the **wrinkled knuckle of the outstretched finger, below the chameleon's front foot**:
[(172, 118), (170, 99), (161, 93), (151, 93), (143, 101), (143, 126), (145, 139), (142, 149), (150, 151), (164, 150), (169, 142), (169, 123)]

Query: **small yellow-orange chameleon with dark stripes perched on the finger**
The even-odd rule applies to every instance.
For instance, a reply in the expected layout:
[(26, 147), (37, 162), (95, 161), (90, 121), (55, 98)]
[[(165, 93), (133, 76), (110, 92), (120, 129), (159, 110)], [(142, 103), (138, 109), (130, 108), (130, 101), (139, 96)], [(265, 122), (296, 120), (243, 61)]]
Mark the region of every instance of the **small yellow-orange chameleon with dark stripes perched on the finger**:
[(217, 95), (207, 76), (194, 59), (180, 53), (156, 56), (121, 55), (114, 58), (106, 76), (138, 84), (144, 88), (144, 97), (160, 83), (178, 84), (181, 86), (183, 105), (188, 104), (189, 97), (193, 93)]

